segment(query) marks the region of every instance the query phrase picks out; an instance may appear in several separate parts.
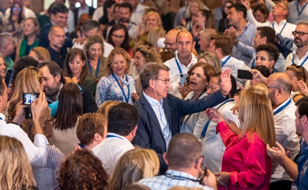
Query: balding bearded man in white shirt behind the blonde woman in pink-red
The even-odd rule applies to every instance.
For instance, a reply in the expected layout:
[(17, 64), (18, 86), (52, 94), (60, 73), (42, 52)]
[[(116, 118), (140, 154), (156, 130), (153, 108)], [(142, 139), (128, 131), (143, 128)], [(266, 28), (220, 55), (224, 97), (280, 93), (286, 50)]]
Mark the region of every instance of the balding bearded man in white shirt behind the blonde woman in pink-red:
[[(274, 73), (266, 81), (274, 114), (276, 141), (290, 152), (293, 160), (300, 151), (296, 135), (296, 106), (291, 100), (292, 83), (285, 73)], [(269, 190), (290, 190), (292, 178), (277, 161), (272, 162)]]

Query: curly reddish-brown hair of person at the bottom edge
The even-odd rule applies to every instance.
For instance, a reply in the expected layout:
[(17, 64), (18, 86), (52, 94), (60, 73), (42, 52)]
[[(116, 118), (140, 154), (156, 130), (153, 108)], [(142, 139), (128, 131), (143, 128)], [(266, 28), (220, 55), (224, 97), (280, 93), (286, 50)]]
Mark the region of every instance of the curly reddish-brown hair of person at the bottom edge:
[(107, 190), (108, 178), (98, 157), (79, 149), (62, 163), (58, 181), (60, 190)]

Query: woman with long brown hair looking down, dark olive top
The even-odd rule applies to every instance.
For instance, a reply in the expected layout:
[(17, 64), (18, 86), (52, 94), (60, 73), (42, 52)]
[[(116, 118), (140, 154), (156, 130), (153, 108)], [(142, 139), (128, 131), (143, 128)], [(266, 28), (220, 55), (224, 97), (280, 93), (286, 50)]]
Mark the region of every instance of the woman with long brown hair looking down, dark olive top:
[(96, 82), (90, 75), (89, 68), (86, 65), (84, 52), (79, 48), (73, 48), (66, 56), (63, 66), (63, 76), (68, 76), (80, 85), (87, 87), (92, 96), (95, 96)]

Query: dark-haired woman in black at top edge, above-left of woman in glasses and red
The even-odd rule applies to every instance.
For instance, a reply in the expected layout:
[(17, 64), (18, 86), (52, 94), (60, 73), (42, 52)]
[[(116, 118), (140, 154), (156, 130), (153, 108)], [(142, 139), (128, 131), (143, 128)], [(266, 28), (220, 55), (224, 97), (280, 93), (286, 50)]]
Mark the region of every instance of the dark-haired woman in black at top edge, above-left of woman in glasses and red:
[(107, 38), (107, 31), (109, 27), (116, 24), (115, 16), (114, 16), (114, 7), (116, 1), (114, 0), (106, 0), (103, 6), (104, 15), (99, 19), (99, 23), (103, 26), (103, 36)]

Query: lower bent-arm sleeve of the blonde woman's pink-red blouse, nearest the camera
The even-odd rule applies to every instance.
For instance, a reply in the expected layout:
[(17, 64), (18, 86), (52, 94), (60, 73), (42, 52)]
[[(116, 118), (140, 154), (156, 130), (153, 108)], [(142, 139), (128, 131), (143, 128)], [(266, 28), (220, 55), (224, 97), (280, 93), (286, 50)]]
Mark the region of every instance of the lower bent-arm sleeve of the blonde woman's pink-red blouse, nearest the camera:
[[(240, 186), (242, 188), (251, 188), (251, 187), (259, 187), (266, 181), (268, 181), (270, 174), (267, 173), (267, 169), (270, 168), (271, 164), (268, 163), (269, 159), (267, 158), (266, 147), (263, 141), (260, 139), (256, 140), (254, 144), (252, 144), (247, 153), (243, 152), (244, 162), (246, 171), (243, 172), (231, 172), (230, 173), (230, 181), (233, 186)], [(270, 162), (270, 161), (269, 161)]]

